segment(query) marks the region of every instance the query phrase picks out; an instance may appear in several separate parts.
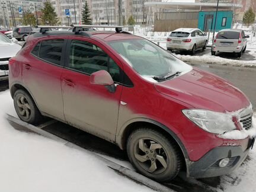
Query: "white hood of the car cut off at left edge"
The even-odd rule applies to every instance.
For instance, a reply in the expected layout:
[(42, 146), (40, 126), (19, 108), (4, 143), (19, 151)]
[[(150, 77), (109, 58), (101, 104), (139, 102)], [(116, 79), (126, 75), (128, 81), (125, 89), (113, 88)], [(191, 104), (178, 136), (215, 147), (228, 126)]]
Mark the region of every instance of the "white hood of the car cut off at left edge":
[(15, 43), (0, 44), (0, 58), (14, 57), (21, 49), (21, 46)]

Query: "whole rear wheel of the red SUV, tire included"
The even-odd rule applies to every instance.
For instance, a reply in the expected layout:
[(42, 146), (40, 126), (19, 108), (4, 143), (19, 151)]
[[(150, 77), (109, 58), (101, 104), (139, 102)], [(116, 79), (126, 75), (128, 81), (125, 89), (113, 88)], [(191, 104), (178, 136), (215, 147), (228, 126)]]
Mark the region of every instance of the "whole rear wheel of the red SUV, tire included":
[(33, 98), (22, 89), (14, 93), (14, 107), (18, 117), (27, 123), (38, 124), (43, 119)]

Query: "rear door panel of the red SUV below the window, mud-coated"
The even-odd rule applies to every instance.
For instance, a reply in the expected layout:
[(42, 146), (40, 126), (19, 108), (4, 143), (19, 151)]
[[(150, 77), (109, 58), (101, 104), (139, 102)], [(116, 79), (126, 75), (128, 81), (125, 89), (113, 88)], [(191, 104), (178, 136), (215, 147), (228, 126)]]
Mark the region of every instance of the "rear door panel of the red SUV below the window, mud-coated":
[[(65, 41), (63, 42), (65, 47)], [(65, 118), (60, 87), (62, 69), (62, 66), (47, 62), (38, 55), (30, 53), (24, 58), (22, 76), (24, 84), (30, 92), (33, 92), (39, 110), (63, 121)]]

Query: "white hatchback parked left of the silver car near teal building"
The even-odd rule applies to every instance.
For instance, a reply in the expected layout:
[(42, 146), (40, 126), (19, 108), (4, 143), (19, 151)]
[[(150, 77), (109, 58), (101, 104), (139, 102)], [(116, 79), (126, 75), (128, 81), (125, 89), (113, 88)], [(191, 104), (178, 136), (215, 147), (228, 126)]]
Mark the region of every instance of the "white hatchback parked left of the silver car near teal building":
[(167, 50), (186, 50), (192, 54), (197, 49), (206, 49), (207, 37), (199, 28), (178, 28), (167, 38)]

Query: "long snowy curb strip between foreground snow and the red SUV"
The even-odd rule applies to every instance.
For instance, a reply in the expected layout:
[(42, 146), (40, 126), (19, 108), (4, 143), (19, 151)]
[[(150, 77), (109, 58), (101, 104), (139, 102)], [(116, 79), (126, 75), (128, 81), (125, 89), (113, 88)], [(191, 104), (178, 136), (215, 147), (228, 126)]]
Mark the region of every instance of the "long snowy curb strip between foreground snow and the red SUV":
[(119, 171), (121, 174), (126, 175), (127, 177), (136, 181), (137, 183), (146, 185), (147, 187), (151, 188), (152, 190), (161, 191), (161, 192), (174, 191), (168, 187), (165, 187), (164, 185), (162, 185), (160, 183), (157, 183), (156, 181), (149, 179), (148, 177), (145, 177), (135, 171), (132, 171), (126, 167), (123, 167), (123, 166), (117, 164), (116, 162), (110, 161), (110, 160), (98, 155), (97, 153), (94, 153), (94, 152), (88, 151), (87, 149), (81, 148), (78, 145), (75, 145), (71, 142), (68, 142), (65, 139), (62, 139), (58, 136), (53, 135), (52, 133), (49, 133), (43, 129), (40, 129), (39, 127), (33, 126), (32, 124), (29, 124), (29, 123), (25, 123), (24, 121), (21, 121), (20, 119), (17, 119), (16, 117), (13, 117), (13, 116), (7, 114), (6, 118), (12, 126), (18, 125), (18, 130), (27, 130), (28, 129), (29, 132), (39, 134), (41, 136), (55, 140), (56, 142), (62, 143), (62, 145), (68, 146), (73, 149), (78, 149), (79, 151), (87, 152), (91, 155), (94, 155), (98, 159), (103, 161), (105, 163), (105, 165), (107, 165), (108, 167), (110, 167), (116, 171)]

